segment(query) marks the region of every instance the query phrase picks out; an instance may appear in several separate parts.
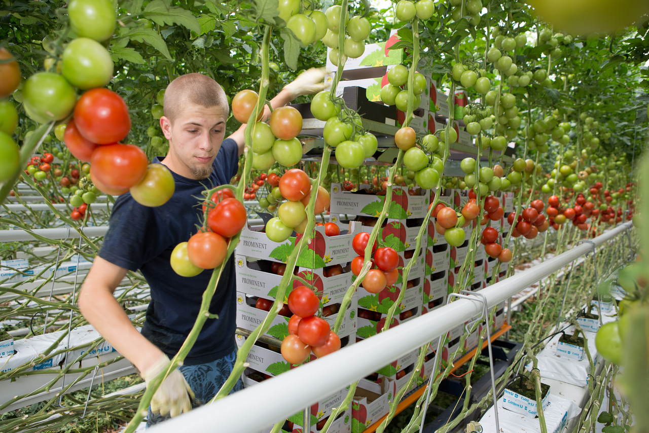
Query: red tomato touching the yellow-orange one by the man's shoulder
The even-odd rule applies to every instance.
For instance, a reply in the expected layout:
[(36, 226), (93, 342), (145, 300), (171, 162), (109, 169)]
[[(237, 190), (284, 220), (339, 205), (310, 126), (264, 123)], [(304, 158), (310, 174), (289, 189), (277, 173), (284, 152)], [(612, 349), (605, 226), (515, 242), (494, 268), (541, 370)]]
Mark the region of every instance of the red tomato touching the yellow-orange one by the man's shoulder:
[[(77, 103), (78, 104), (78, 103)], [(132, 144), (98, 147), (90, 159), (92, 171), (108, 188), (125, 189), (140, 182), (147, 173), (147, 156)]]

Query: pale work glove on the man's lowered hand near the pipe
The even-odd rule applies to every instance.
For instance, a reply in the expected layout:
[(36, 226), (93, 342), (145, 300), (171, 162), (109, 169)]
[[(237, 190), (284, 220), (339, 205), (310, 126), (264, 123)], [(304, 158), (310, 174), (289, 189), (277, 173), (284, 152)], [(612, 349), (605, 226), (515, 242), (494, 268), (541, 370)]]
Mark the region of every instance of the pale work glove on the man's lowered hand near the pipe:
[[(151, 367), (141, 373), (142, 378), (149, 386), (149, 382), (153, 380), (164, 367), (169, 364), (169, 358), (163, 354), (154, 362)], [(171, 414), (172, 417), (182, 414), (182, 412), (190, 412), (191, 401), (194, 393), (191, 391), (190, 386), (187, 384), (185, 377), (180, 373), (180, 370), (174, 369), (169, 376), (165, 378), (164, 382), (158, 387), (156, 393), (151, 399), (151, 412), (160, 415)]]

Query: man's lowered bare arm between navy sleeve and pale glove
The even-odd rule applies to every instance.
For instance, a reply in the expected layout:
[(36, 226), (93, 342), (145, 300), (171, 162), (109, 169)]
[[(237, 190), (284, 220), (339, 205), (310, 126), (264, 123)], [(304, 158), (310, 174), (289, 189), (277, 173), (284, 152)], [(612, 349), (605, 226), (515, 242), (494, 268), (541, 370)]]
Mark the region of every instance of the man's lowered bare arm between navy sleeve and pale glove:
[(99, 334), (140, 371), (163, 355), (132, 325), (113, 296), (127, 269), (97, 256), (79, 294), (79, 309)]

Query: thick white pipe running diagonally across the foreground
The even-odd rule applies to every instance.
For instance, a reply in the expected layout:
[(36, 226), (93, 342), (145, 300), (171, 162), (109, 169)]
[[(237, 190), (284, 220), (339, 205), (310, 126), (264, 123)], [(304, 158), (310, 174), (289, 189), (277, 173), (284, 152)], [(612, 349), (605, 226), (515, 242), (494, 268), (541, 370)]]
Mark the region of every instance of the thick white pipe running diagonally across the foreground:
[[(594, 238), (593, 243), (595, 246), (601, 245), (629, 229), (630, 222), (618, 225)], [(485, 295), (491, 308), (592, 250), (593, 244), (582, 243), (547, 262), (497, 282), (480, 293)], [(324, 358), (228, 395), (214, 404), (160, 423), (152, 431), (258, 433), (384, 367), (399, 356), (446, 334), (448, 330), (480, 314), (481, 310), (482, 304), (478, 301), (459, 299)], [(251, 416), (251, 408), (254, 416)]]

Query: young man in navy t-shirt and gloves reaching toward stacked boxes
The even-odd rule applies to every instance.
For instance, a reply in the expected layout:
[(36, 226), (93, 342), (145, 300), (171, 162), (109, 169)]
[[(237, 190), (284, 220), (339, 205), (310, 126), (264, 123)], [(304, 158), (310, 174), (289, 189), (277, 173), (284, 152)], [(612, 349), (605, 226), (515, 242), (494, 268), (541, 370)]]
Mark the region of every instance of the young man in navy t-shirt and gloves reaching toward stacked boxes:
[[(299, 95), (324, 90), (323, 79), (323, 69), (309, 69), (284, 87), (271, 106), (284, 106)], [(229, 183), (238, 171), (245, 125), (223, 140), (228, 113), (225, 92), (210, 77), (191, 73), (167, 86), (160, 126), (169, 140), (169, 153), (153, 162), (171, 170), (175, 192), (156, 208), (136, 203), (129, 193), (117, 199), (110, 229), (79, 295), (84, 317), (141, 371), (147, 384), (188, 336), (212, 275), (206, 270), (196, 277), (180, 277), (171, 269), (169, 258), (178, 243), (197, 232), (202, 192)], [(269, 114), (266, 106), (265, 117)], [(127, 271), (138, 269), (151, 287), (141, 333), (113, 296)], [(236, 358), (235, 297), (231, 258), (210, 304), (210, 313), (219, 318), (206, 321), (184, 365), (158, 388), (147, 426), (209, 401), (230, 375)], [(239, 389), (240, 380), (234, 390)]]

